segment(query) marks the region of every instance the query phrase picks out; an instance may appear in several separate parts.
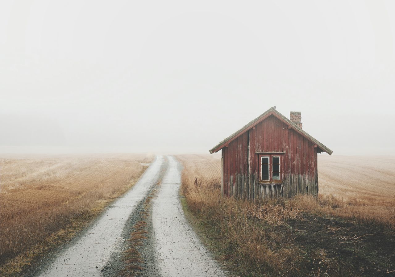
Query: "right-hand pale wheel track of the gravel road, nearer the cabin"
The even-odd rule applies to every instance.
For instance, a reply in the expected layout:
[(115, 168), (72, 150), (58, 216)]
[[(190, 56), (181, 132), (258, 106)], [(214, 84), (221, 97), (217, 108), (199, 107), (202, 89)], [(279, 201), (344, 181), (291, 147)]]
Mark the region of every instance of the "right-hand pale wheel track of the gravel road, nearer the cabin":
[(167, 156), (169, 166), (157, 197), (152, 200), (155, 260), (162, 277), (226, 276), (186, 221), (179, 199), (180, 166)]

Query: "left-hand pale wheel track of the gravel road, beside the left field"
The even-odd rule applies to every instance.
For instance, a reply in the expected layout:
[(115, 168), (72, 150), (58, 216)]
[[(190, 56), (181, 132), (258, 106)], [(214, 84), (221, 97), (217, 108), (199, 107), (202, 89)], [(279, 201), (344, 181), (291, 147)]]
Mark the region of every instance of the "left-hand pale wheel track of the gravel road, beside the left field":
[(124, 196), (115, 201), (102, 217), (76, 241), (66, 247), (40, 277), (100, 276), (100, 270), (111, 254), (120, 251), (122, 232), (130, 214), (160, 178), (164, 157), (158, 156), (140, 180)]

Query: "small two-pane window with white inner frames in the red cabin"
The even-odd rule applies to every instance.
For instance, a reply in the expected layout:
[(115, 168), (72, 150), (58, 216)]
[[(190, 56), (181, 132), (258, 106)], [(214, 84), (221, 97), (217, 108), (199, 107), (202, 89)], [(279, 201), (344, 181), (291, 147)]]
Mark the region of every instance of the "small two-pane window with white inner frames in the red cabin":
[(260, 156), (260, 181), (277, 183), (281, 181), (281, 156)]

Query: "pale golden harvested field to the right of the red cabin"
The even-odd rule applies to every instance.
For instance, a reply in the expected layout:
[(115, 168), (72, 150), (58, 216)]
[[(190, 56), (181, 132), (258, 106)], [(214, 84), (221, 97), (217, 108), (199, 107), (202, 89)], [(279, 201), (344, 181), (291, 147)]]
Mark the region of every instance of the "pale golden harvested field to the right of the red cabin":
[(339, 216), (395, 226), (394, 156), (322, 155), (318, 182), (321, 198), (339, 200)]

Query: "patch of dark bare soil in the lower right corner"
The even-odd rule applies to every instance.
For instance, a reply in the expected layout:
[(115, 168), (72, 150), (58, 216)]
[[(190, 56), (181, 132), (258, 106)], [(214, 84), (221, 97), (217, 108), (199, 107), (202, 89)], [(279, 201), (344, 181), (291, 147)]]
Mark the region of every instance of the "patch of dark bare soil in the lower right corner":
[(307, 213), (287, 220), (280, 232), (290, 229), (302, 264), (319, 276), (395, 276), (393, 230)]

